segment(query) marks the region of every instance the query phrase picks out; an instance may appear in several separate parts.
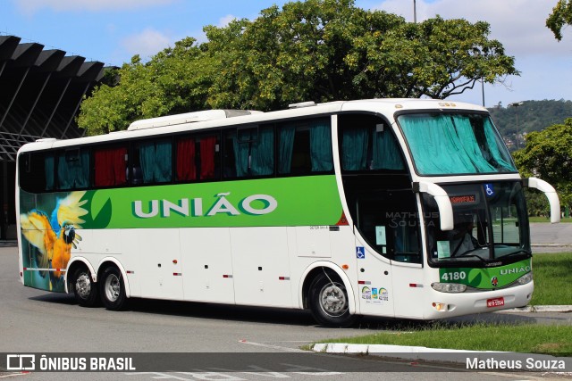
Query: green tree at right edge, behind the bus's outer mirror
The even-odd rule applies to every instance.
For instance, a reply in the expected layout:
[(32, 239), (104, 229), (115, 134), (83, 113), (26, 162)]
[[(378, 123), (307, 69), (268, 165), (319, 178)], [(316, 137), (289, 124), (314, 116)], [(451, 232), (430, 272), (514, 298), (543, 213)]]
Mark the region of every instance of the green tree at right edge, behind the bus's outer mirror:
[(548, 181), (562, 205), (572, 204), (572, 118), (528, 134), (526, 147), (514, 158), (523, 176)]

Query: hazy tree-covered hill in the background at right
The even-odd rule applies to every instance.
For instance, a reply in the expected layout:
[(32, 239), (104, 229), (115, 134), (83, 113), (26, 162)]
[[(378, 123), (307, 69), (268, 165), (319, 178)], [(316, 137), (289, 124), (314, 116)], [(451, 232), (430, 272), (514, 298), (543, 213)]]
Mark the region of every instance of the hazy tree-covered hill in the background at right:
[(524, 101), (519, 106), (499, 104), (488, 110), (509, 150), (516, 151), (525, 146), (527, 133), (562, 124), (567, 118), (572, 118), (572, 101)]

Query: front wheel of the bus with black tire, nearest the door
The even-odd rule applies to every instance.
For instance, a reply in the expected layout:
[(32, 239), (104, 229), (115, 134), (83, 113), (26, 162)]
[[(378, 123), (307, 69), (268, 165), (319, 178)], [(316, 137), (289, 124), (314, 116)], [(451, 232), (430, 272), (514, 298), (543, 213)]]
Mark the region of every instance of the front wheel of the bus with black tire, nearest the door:
[(356, 316), (349, 313), (346, 286), (332, 273), (319, 273), (308, 291), (310, 311), (314, 319), (327, 327), (349, 327)]

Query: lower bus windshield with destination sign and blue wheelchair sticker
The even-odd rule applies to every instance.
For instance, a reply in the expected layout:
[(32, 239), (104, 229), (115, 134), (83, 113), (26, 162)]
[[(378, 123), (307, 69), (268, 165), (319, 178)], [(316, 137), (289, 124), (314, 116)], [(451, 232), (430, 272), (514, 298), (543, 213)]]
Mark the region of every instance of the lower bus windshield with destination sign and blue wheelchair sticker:
[(522, 259), (530, 256), (530, 236), (520, 182), (442, 186), (450, 195), (455, 227), (442, 231), (439, 211), (423, 195), (427, 251), (436, 265), (459, 261)]

